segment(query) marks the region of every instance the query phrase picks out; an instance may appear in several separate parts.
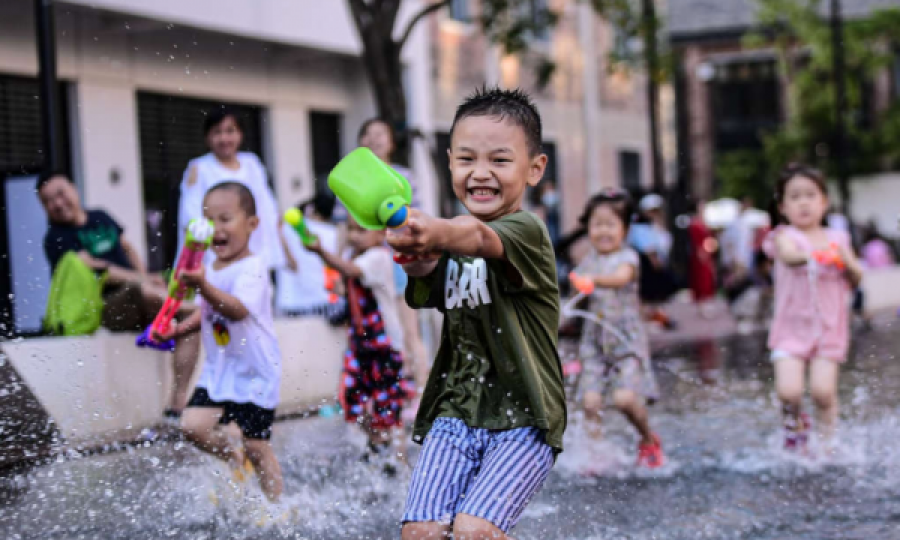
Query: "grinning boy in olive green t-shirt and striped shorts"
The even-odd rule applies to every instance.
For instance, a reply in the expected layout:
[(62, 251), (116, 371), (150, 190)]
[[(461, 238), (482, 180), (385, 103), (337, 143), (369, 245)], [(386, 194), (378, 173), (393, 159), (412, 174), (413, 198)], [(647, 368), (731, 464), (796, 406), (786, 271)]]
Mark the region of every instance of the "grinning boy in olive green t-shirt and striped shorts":
[(453, 190), (471, 214), (410, 210), (388, 233), (406, 299), (444, 314), (413, 432), (404, 539), (504, 538), (543, 484), (566, 426), (557, 352), (556, 261), (544, 224), (522, 210), (547, 165), (540, 116), (520, 91), (483, 89), (457, 109)]

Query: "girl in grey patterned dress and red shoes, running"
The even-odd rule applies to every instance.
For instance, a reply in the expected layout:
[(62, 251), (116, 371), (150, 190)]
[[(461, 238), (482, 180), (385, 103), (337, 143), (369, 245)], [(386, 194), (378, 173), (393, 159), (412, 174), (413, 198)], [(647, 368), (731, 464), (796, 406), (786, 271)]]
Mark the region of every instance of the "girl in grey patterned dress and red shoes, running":
[(580, 221), (592, 249), (573, 272), (590, 280), (594, 292), (590, 312), (605, 324), (585, 321), (580, 356), (583, 374), (579, 401), (588, 433), (600, 436), (603, 397), (613, 403), (640, 435), (639, 466), (656, 468), (665, 457), (659, 437), (650, 429), (647, 405), (659, 398), (650, 365), (647, 331), (638, 296), (638, 254), (625, 244), (632, 205), (624, 191), (606, 190), (588, 201)]

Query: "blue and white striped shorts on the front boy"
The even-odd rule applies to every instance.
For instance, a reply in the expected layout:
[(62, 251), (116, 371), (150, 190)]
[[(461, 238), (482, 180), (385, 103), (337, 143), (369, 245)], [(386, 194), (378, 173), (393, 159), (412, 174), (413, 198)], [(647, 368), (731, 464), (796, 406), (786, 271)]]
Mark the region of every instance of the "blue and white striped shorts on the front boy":
[(403, 523), (450, 524), (468, 514), (509, 532), (554, 459), (537, 428), (490, 430), (438, 418), (413, 471)]

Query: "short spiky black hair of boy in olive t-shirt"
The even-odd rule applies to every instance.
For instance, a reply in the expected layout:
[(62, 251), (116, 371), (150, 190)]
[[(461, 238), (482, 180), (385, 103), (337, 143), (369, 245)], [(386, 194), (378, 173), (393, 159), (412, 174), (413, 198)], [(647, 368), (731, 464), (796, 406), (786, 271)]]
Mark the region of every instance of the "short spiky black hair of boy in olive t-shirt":
[(470, 116), (494, 116), (512, 122), (525, 132), (529, 153), (532, 156), (541, 153), (541, 115), (531, 97), (523, 90), (503, 90), (497, 86), (476, 89), (456, 109), (456, 116), (450, 127), (451, 139), (456, 124)]

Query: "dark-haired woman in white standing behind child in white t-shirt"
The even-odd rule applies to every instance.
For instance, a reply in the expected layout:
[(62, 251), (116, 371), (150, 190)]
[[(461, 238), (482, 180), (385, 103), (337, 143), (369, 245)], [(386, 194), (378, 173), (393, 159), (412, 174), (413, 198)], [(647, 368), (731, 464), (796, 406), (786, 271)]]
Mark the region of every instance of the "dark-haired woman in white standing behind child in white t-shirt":
[(250, 237), (250, 251), (260, 256), (270, 269), (284, 265), (284, 252), (278, 237), (278, 205), (269, 188), (268, 175), (259, 157), (241, 152), (244, 132), (240, 117), (221, 107), (209, 113), (203, 125), (209, 153), (192, 159), (181, 182), (178, 207), (178, 251), (184, 245), (188, 223), (203, 217), (203, 197), (207, 190), (225, 181), (247, 186), (256, 202), (259, 227)]

